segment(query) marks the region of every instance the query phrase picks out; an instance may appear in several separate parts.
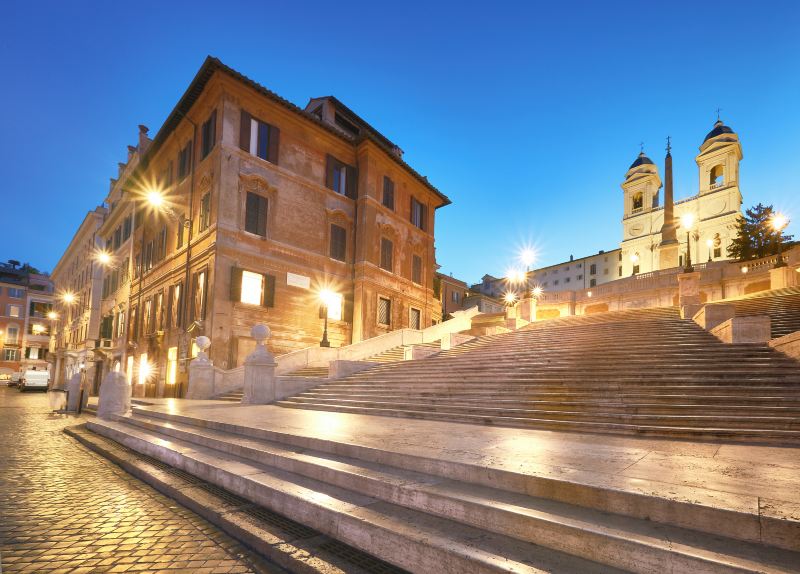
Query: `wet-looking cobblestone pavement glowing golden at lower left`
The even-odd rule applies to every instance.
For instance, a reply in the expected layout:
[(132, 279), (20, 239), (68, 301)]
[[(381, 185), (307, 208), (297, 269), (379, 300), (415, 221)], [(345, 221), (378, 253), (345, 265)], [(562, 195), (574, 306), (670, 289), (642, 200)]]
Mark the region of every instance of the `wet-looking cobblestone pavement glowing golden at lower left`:
[(78, 422), (0, 386), (0, 573), (281, 572), (61, 432)]

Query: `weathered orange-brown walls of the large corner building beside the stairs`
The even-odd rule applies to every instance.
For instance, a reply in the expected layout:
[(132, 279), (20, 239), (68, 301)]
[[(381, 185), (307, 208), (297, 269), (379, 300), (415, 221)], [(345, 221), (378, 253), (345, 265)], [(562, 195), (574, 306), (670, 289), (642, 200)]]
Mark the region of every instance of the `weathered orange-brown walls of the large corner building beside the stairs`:
[[(280, 129), (277, 162), (240, 148), (243, 111)], [(216, 118), (215, 144), (203, 157), (201, 131), (211, 117)], [(179, 154), (189, 141), (193, 142), (193, 166), (180, 178)], [(326, 185), (329, 155), (357, 166), (356, 198)], [(101, 313), (108, 317), (126, 311), (125, 332), (109, 341), (103, 368), (128, 371), (131, 365), (134, 394), (180, 396), (199, 335), (210, 337), (211, 359), (226, 369), (241, 365), (252, 350), (250, 329), (257, 323), (271, 328), (268, 346), (275, 354), (319, 344), (322, 289), (342, 296), (341, 318), (330, 315), (328, 321), (328, 338), (334, 346), (409, 327), (412, 310), (419, 312), (420, 327), (441, 320), (441, 305), (433, 294), (433, 230), (434, 211), (446, 198), (431, 191), (376, 141), (342, 137), (235, 75), (216, 71), (180, 121), (160, 132), (143, 155), (136, 150), (134, 156), (129, 156), (129, 164), (138, 162), (139, 166), (132, 174), (121, 168), (120, 183), (112, 182), (109, 200), (117, 197), (115, 187), (126, 187), (125, 181), (139, 182), (138, 189), (127, 185), (130, 193), (120, 196), (101, 233), (124, 220), (131, 202), (138, 201), (138, 224), (130, 241), (114, 253), (121, 261), (133, 249), (131, 279), (114, 293), (106, 293)], [(159, 175), (170, 162), (171, 183)], [(384, 176), (394, 182), (394, 209), (382, 204)], [(149, 188), (163, 191), (168, 210), (145, 206)], [(266, 236), (245, 229), (248, 194), (268, 202)], [(427, 206), (425, 230), (411, 222), (412, 196)], [(207, 217), (202, 216), (205, 207), (209, 208)], [(190, 231), (179, 247), (179, 219), (184, 215)], [(345, 261), (331, 257), (334, 223), (346, 230)], [(151, 242), (158, 244), (165, 228), (163, 256), (146, 266), (142, 253), (147, 253)], [(391, 271), (380, 268), (383, 238), (394, 246)], [(421, 261), (419, 283), (412, 280), (414, 255)], [(237, 278), (243, 272), (264, 277), (265, 296), (260, 304), (241, 302)], [(200, 274), (205, 275), (205, 297), (196, 305)], [(182, 317), (176, 321), (169, 294), (178, 285), (184, 303), (179, 305)], [(268, 291), (274, 297), (267, 297)], [(378, 322), (381, 297), (391, 300), (389, 325)], [(162, 312), (156, 317), (160, 298)], [(148, 308), (149, 322), (145, 321)], [(140, 385), (142, 364), (148, 365), (150, 375)]]

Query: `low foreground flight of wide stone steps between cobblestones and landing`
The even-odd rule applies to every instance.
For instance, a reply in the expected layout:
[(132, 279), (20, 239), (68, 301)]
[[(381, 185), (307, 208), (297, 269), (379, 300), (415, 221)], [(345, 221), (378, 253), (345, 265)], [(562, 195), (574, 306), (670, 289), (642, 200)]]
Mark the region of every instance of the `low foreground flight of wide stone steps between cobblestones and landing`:
[(786, 574), (800, 564), (796, 520), (724, 498), (666, 499), (242, 424), (135, 409), (87, 426), (410, 572)]

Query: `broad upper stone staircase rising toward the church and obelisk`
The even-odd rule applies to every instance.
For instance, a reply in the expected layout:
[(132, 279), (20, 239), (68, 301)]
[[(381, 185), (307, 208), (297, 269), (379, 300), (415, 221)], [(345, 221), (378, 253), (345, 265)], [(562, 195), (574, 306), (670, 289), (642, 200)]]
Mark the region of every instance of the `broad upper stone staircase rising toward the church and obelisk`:
[(552, 430), (800, 440), (800, 364), (726, 345), (675, 308), (537, 321), (278, 403)]

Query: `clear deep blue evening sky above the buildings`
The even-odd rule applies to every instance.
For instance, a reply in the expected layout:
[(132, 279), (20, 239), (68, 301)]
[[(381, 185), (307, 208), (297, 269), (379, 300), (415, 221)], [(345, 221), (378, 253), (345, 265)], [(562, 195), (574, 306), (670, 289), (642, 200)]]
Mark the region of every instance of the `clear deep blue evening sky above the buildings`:
[[(645, 142), (676, 197), (722, 108), (745, 206), (800, 222), (800, 3), (6, 3), (0, 260), (51, 270), (108, 178), (206, 55), (291, 101), (336, 95), (450, 196), (442, 271), (502, 274), (612, 249)], [(797, 224), (788, 230), (797, 232)]]

